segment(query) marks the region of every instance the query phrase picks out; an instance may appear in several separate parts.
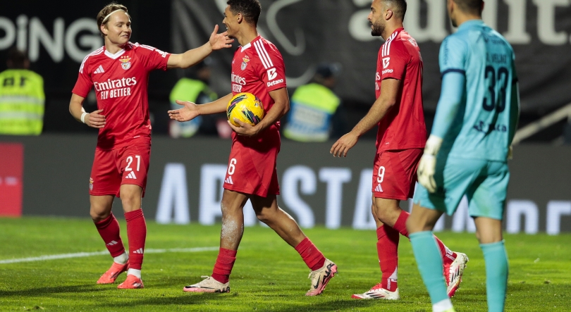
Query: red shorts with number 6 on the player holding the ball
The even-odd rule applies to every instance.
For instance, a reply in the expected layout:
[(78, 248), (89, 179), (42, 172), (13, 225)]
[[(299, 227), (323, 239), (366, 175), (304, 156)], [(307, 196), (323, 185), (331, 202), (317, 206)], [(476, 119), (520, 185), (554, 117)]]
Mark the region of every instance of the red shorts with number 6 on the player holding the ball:
[(280, 194), (276, 171), (280, 144), (280, 132), (275, 125), (257, 137), (242, 137), (233, 133), (223, 187), (262, 197)]

